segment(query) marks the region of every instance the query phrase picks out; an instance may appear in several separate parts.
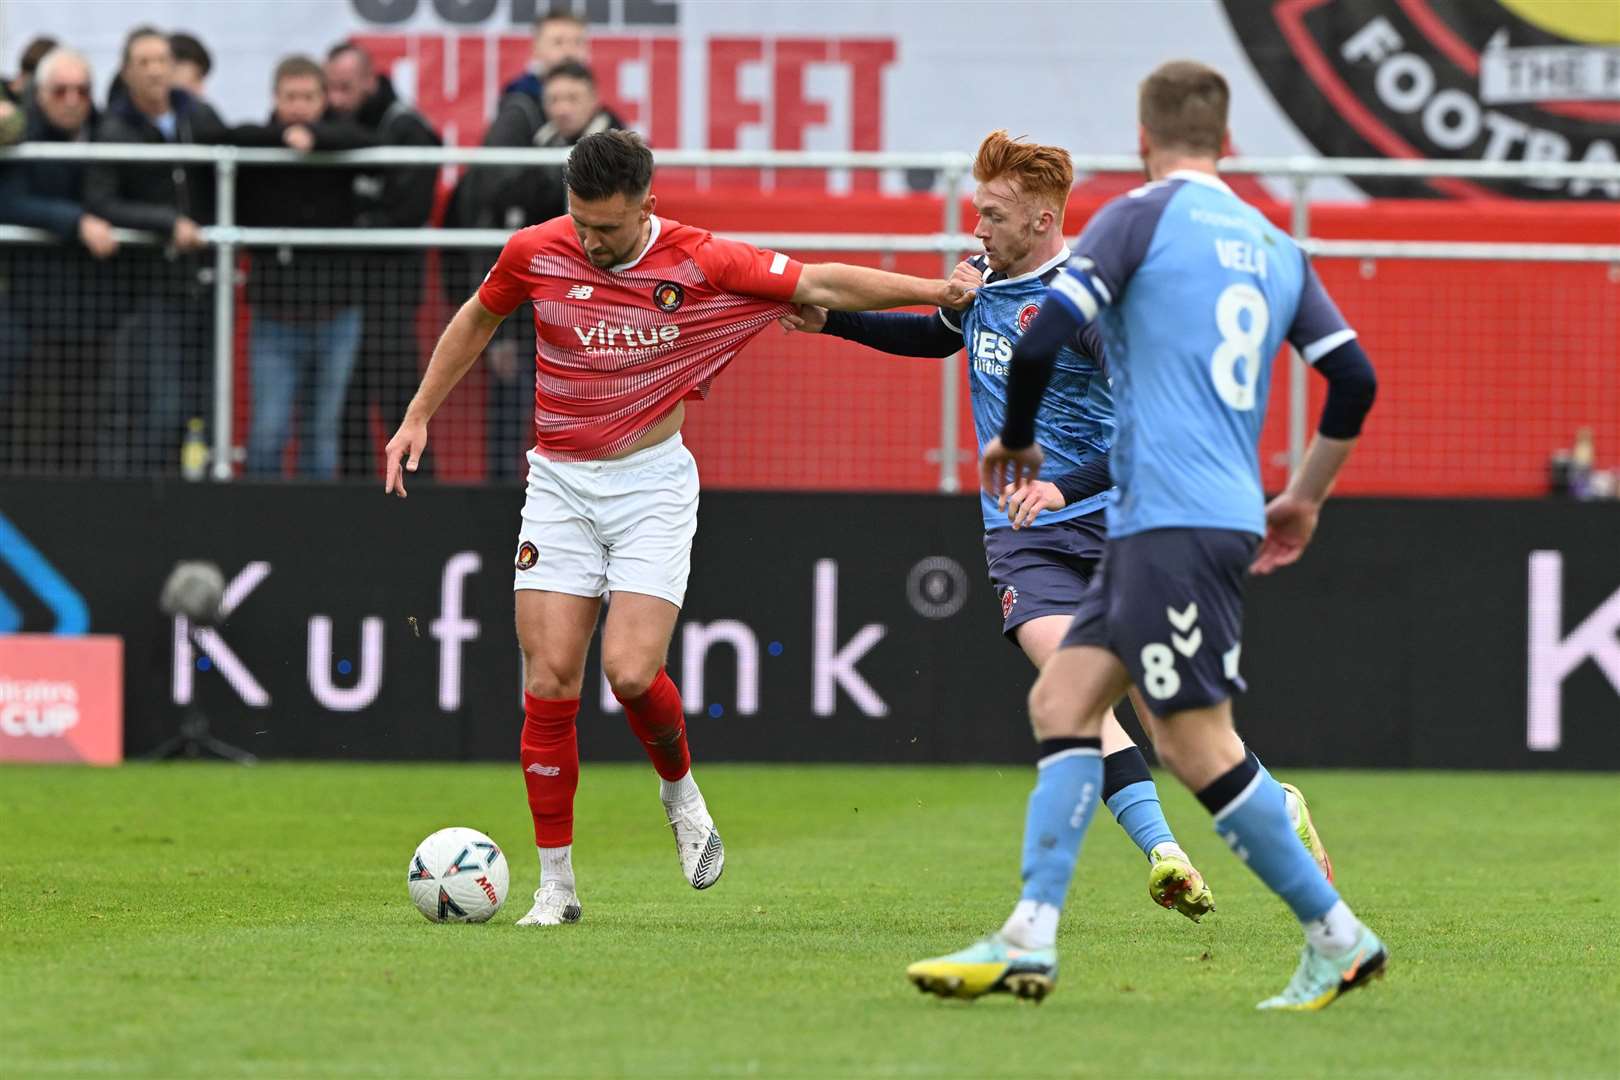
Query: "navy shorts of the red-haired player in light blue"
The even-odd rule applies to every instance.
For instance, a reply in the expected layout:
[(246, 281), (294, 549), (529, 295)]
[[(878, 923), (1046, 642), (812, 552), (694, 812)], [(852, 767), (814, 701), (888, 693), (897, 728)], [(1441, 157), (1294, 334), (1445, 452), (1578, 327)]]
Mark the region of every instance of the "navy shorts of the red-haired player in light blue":
[(1034, 528), (1000, 528), (985, 533), (990, 585), (1001, 599), (1001, 633), (1017, 644), (1014, 631), (1030, 619), (1074, 614), (1097, 572), (1108, 539), (1106, 510)]

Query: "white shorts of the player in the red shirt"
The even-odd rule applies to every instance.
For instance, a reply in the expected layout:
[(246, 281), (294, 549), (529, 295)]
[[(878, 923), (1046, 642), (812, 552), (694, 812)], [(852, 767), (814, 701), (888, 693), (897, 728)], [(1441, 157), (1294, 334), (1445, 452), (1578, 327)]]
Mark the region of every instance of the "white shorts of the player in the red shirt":
[(514, 589), (687, 596), (698, 531), (698, 463), (676, 432), (609, 461), (528, 452)]

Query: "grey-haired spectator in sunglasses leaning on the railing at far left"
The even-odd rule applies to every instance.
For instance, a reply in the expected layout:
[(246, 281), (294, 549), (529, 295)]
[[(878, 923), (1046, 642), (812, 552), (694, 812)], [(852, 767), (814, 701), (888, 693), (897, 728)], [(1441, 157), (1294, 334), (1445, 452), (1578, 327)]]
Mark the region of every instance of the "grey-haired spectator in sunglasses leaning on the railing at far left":
[[(89, 141), (94, 107), (84, 57), (53, 49), (29, 97), (24, 141)], [(13, 248), (0, 264), (0, 461), (75, 466), (96, 444), (99, 406), (94, 390), (84, 390), (97, 385), (91, 358), (105, 304), (76, 298), (107, 291), (105, 269), (86, 253), (105, 259), (118, 241), (112, 225), (86, 212), (83, 189), (83, 162), (0, 162), (0, 223), (44, 228), (71, 244)]]

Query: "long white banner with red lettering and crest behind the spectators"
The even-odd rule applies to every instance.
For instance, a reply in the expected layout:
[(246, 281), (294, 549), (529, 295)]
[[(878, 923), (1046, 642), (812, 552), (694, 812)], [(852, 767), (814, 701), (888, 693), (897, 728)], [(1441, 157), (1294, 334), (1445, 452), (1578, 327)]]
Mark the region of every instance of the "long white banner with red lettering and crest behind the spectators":
[[(1620, 147), (1620, 3), (1604, 0), (5, 0), (0, 58), (52, 34), (105, 89), (136, 23), (185, 29), (214, 52), (209, 96), (245, 121), (269, 113), (279, 58), (355, 37), (446, 138), (476, 144), (554, 6), (590, 23), (604, 97), (654, 147), (967, 151), (1009, 128), (1131, 154), (1137, 84), (1183, 57), (1230, 79), (1246, 155)], [(1620, 199), (1594, 181), (1312, 185), (1362, 189)]]

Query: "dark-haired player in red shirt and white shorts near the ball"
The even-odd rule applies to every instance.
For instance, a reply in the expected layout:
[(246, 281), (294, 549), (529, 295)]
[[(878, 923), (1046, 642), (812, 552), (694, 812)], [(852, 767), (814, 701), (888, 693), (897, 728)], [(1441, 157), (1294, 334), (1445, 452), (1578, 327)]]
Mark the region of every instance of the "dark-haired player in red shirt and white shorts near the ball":
[(535, 304), (535, 449), (517, 547), (523, 780), (539, 889), (520, 926), (580, 920), (573, 879), (575, 716), (603, 596), (603, 672), (661, 777), (693, 889), (726, 848), (692, 779), (680, 693), (664, 670), (697, 533), (698, 474), (680, 442), (687, 398), (708, 393), (755, 334), (794, 304), (961, 308), (961, 285), (836, 262), (800, 264), (654, 214), (653, 155), (630, 131), (582, 139), (564, 168), (569, 214), (520, 230), (450, 319), (387, 447), (405, 495), (428, 421), (496, 327)]

